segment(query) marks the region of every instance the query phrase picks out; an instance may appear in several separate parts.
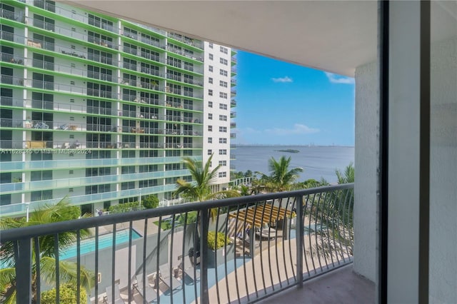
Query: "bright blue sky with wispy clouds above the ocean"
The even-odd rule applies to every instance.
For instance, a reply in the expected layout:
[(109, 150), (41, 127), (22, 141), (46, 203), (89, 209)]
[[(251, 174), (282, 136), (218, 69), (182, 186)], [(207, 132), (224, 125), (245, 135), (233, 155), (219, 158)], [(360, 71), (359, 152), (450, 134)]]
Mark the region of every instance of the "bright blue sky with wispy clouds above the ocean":
[(353, 78), (238, 51), (236, 143), (354, 145)]

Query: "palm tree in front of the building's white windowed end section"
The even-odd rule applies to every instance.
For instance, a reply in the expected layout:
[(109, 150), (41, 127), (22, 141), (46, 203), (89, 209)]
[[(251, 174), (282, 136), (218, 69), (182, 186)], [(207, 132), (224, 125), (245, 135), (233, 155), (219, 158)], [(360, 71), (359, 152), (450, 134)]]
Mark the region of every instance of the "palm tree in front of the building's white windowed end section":
[[(191, 173), (192, 180), (194, 182), (187, 182), (183, 179), (176, 181), (178, 187), (174, 192), (175, 196), (182, 195), (186, 198), (190, 198), (194, 201), (209, 201), (217, 198), (233, 198), (240, 196), (238, 191), (235, 190), (224, 190), (224, 191), (211, 191), (211, 184), (214, 182), (217, 176), (217, 171), (221, 168), (221, 165), (216, 166), (213, 170), (209, 170), (211, 159), (213, 155), (209, 157), (206, 163), (196, 161), (194, 158), (185, 157), (183, 159), (184, 166)], [(216, 210), (211, 210), (211, 218), (214, 218)]]

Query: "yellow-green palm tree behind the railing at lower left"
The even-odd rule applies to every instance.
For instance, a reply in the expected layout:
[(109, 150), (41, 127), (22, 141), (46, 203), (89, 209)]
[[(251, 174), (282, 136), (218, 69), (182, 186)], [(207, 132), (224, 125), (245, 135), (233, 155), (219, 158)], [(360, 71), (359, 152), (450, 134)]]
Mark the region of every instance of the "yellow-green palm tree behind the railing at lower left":
[[(55, 205), (44, 205), (32, 212), (29, 221), (25, 218), (1, 218), (0, 230), (11, 228), (27, 227), (54, 223), (59, 221), (69, 221), (79, 218), (80, 211), (77, 206), (71, 206), (68, 197), (63, 198)], [(86, 215), (84, 215), (86, 217)], [(80, 230), (81, 237), (89, 235), (89, 230)], [(76, 232), (59, 233), (59, 250), (68, 249), (76, 241)], [(38, 239), (40, 250), (40, 273), (49, 285), (56, 282), (56, 259), (54, 253), (54, 235), (45, 235)], [(32, 240), (32, 248), (34, 248)], [(0, 269), (0, 300), (1, 303), (16, 303), (16, 270), (14, 262), (14, 245), (6, 242), (1, 245), (1, 260), (7, 268)], [(80, 273), (81, 288), (86, 288), (89, 292), (94, 284), (94, 274), (85, 268), (77, 268), (76, 263), (66, 260), (59, 260), (59, 280), (61, 283), (76, 284), (77, 273)], [(37, 285), (40, 283), (36, 275), (36, 256), (32, 251), (32, 275), (31, 275), (32, 300), (36, 301)]]

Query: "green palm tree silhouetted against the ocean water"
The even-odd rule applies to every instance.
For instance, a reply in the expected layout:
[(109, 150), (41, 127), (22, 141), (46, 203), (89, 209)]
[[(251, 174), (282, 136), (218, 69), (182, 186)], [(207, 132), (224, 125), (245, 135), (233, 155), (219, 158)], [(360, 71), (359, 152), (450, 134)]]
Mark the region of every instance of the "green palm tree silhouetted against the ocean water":
[(269, 191), (286, 191), (290, 190), (293, 181), (299, 177), (299, 173), (303, 172), (303, 168), (293, 168), (289, 170), (291, 165), (291, 157), (286, 158), (281, 156), (279, 161), (273, 157), (268, 160), (268, 170), (271, 174), (260, 173), (260, 181)]

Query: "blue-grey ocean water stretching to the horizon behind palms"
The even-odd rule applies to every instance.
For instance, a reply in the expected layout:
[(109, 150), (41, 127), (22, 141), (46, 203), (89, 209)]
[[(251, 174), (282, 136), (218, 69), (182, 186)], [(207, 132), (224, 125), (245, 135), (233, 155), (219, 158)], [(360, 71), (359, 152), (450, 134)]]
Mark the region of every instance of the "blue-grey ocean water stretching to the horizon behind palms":
[[(293, 149), (298, 153), (281, 152), (278, 150)], [(304, 169), (298, 181), (309, 178), (316, 180), (325, 178), (329, 183), (338, 181), (335, 171), (341, 171), (354, 161), (354, 147), (336, 146), (236, 146), (231, 153), (236, 160), (232, 161), (235, 171), (251, 170), (268, 173), (268, 159), (274, 157), (278, 160), (281, 156), (291, 156), (291, 168)]]

